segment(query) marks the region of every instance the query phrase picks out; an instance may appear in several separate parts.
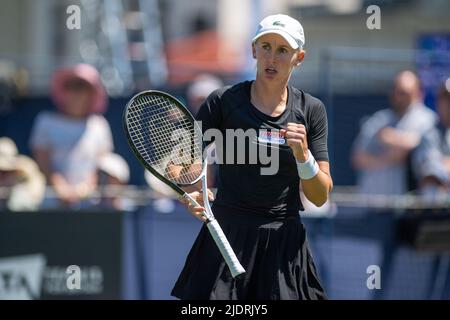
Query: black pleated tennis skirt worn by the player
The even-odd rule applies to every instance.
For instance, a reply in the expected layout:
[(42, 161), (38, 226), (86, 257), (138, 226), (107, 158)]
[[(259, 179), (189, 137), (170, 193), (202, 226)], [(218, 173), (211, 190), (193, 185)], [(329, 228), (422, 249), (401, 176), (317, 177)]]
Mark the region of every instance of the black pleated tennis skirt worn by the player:
[(183, 300), (326, 299), (299, 215), (275, 219), (214, 206), (246, 273), (234, 278), (203, 225), (172, 290)]

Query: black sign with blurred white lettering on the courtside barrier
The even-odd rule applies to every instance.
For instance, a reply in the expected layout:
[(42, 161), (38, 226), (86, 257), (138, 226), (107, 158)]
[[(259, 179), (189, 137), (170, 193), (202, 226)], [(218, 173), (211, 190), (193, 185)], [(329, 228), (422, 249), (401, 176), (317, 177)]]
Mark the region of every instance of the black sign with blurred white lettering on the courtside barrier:
[(0, 213), (0, 300), (120, 299), (119, 212)]

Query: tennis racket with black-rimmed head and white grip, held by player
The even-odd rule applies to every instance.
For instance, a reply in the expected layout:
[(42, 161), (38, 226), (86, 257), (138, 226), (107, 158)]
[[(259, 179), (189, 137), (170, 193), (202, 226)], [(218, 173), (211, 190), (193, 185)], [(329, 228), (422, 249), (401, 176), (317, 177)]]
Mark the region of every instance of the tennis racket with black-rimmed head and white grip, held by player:
[(191, 113), (171, 95), (150, 90), (128, 102), (123, 123), (128, 143), (141, 164), (194, 206), (199, 204), (181, 187), (202, 181), (206, 226), (233, 278), (244, 273), (209, 205), (205, 145)]

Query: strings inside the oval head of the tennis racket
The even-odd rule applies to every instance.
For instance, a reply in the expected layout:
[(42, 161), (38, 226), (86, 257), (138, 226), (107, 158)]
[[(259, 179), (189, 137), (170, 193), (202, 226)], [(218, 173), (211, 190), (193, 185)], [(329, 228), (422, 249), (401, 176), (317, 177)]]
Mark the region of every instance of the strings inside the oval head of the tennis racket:
[(170, 99), (142, 95), (129, 106), (128, 130), (141, 157), (165, 178), (191, 184), (202, 173), (201, 132)]

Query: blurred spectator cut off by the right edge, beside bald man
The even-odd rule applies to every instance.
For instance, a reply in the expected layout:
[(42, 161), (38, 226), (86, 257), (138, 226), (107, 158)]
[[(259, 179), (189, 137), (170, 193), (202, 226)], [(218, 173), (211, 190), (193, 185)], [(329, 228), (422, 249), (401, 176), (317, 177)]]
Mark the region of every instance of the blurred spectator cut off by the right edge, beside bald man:
[(450, 78), (437, 96), (439, 123), (427, 132), (414, 151), (419, 191), (428, 200), (447, 198), (450, 190)]

